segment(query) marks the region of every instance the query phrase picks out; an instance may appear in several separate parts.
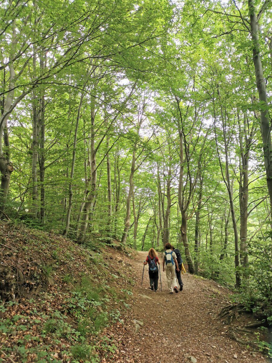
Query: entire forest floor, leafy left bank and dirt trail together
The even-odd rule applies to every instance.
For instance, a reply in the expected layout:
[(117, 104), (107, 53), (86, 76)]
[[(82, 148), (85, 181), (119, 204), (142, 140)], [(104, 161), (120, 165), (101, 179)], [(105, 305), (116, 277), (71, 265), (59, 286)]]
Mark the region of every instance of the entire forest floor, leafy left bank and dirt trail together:
[(222, 319), (232, 292), (217, 282), (185, 274), (169, 295), (161, 271), (155, 294), (147, 270), (141, 286), (147, 252), (118, 241), (88, 248), (10, 224), (0, 236), (1, 362), (144, 363), (151, 350), (161, 363), (266, 361), (267, 329), (241, 311)]

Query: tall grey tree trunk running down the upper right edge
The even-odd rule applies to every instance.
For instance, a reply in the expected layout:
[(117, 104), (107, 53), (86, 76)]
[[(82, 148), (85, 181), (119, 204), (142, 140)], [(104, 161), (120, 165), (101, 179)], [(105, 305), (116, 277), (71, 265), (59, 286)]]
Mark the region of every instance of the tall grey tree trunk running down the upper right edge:
[(271, 142), (271, 118), (268, 113), (268, 101), (267, 101), (267, 90), (266, 83), (263, 74), (263, 65), (261, 63), (260, 56), (260, 44), (259, 44), (259, 24), (256, 15), (256, 9), (254, 0), (248, 0), (248, 9), (250, 13), (250, 30), (252, 38), (252, 49), (253, 49), (253, 63), (255, 68), (256, 85), (259, 93), (259, 100), (262, 103), (260, 109), (260, 126), (261, 126), (261, 137), (263, 140), (263, 151), (264, 151), (264, 165), (266, 171), (266, 180), (268, 193), (270, 198), (270, 208), (272, 210), (272, 142)]

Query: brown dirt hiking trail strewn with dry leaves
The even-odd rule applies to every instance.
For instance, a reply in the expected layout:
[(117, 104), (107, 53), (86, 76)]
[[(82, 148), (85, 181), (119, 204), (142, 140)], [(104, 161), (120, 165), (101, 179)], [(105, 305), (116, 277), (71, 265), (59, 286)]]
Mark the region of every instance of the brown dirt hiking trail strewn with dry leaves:
[[(132, 262), (137, 284), (133, 289), (131, 309), (124, 324), (116, 324), (116, 330), (111, 333), (118, 351), (112, 360), (104, 358), (104, 362), (267, 362), (260, 353), (252, 352), (230, 338), (231, 327), (242, 326), (248, 322), (248, 317), (230, 325), (218, 319), (221, 308), (228, 304), (227, 289), (187, 273), (182, 275), (183, 291), (171, 295), (161, 263), (162, 291), (159, 278), (159, 289), (155, 293), (149, 289), (148, 266), (145, 266), (141, 286), (146, 256), (147, 252), (139, 252)], [(161, 254), (159, 258), (162, 262)], [(139, 321), (136, 322), (139, 325), (136, 326), (133, 319)], [(250, 338), (252, 340), (253, 336)]]

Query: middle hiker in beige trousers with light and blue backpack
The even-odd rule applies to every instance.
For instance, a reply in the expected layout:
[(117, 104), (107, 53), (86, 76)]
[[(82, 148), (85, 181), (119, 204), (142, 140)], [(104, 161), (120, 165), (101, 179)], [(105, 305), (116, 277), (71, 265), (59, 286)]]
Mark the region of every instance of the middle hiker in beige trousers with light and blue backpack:
[(167, 285), (170, 290), (170, 294), (173, 294), (174, 290), (175, 293), (178, 293), (176, 270), (180, 271), (180, 269), (178, 268), (177, 256), (176, 253), (172, 250), (173, 246), (169, 242), (165, 244), (164, 248), (165, 251), (162, 258), (162, 267), (163, 271), (166, 272)]

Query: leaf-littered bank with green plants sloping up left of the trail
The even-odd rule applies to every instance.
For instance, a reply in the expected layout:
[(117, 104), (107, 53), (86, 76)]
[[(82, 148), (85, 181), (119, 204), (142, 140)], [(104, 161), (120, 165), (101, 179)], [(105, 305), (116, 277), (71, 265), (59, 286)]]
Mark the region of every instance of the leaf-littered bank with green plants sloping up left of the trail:
[(102, 332), (128, 307), (126, 253), (11, 225), (0, 238), (0, 362), (93, 363), (115, 351)]

